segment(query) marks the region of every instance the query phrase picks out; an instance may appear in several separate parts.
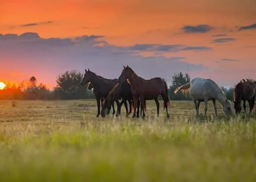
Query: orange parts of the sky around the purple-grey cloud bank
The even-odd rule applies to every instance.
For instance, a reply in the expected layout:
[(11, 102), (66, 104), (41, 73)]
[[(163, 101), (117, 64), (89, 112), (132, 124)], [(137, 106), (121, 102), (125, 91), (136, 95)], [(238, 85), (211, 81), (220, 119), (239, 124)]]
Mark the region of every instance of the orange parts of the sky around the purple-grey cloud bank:
[[(65, 0), (2, 0), (0, 2), (0, 34), (36, 32), (41, 38), (75, 38), (82, 35), (103, 35), (108, 44), (129, 47), (135, 44), (182, 44), (210, 47), (210, 51), (161, 52), (165, 57), (186, 57), (186, 63), (203, 64), (208, 69), (192, 76), (211, 77), (224, 85), (232, 85), (240, 78), (256, 78), (256, 28), (238, 31), (240, 27), (256, 23), (254, 0), (142, 0), (142, 1), (65, 1)], [(185, 34), (184, 26), (206, 24), (207, 32)], [(224, 34), (226, 36), (213, 37)], [(226, 43), (213, 39), (233, 38)], [(30, 52), (27, 52), (29, 54)], [(138, 52), (154, 56), (155, 52)], [(1, 55), (5, 64), (8, 55)], [(5, 59), (3, 59), (5, 57)], [(16, 59), (16, 67), (23, 64)], [(231, 61), (221, 61), (222, 59)], [(236, 60), (236, 61), (232, 61)], [(129, 64), (129, 63), (127, 63)], [(76, 68), (73, 68), (76, 69)], [(179, 72), (179, 71), (177, 71)], [(251, 73), (253, 72), (253, 73)], [(6, 75), (23, 75), (11, 77)], [(38, 72), (6, 68), (0, 81), (18, 82)], [(218, 73), (218, 74), (217, 74)], [(200, 75), (201, 74), (201, 75)], [(38, 74), (42, 76), (42, 74)], [(57, 74), (56, 74), (57, 75)], [(118, 76), (117, 76), (118, 77)], [(49, 86), (55, 77), (40, 78)]]

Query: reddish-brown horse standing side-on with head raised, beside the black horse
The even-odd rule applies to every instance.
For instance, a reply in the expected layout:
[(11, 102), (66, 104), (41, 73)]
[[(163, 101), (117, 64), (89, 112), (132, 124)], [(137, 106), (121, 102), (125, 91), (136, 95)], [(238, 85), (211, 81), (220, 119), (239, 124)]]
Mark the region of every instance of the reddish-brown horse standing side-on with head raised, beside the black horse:
[(159, 116), (159, 102), (158, 102), (159, 95), (161, 95), (163, 98), (164, 108), (166, 108), (167, 118), (170, 117), (170, 115), (168, 114), (168, 107), (170, 107), (171, 104), (168, 96), (167, 84), (162, 78), (155, 77), (155, 78), (151, 78), (150, 80), (145, 80), (142, 77), (139, 77), (133, 71), (133, 69), (131, 69), (127, 65), (127, 67), (123, 66), (122, 73), (118, 78), (119, 83), (126, 80), (131, 84), (131, 93), (133, 94), (133, 101), (134, 101), (133, 118), (135, 117), (138, 100), (141, 101), (143, 118), (145, 117), (146, 100), (155, 100), (156, 107), (157, 107), (157, 114)]

